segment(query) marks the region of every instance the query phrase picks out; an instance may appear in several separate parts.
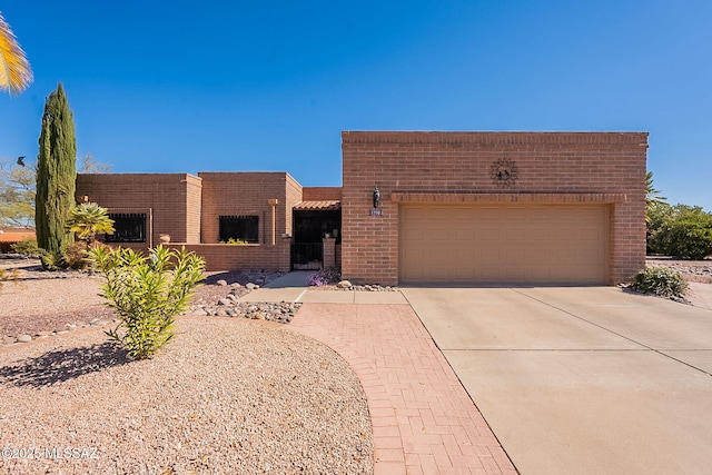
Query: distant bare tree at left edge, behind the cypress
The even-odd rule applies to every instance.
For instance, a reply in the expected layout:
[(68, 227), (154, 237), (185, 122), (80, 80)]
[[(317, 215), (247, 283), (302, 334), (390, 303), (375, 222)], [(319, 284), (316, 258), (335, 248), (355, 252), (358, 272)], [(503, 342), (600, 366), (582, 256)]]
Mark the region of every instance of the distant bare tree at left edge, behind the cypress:
[(0, 227), (34, 225), (34, 184), (33, 167), (0, 158)]

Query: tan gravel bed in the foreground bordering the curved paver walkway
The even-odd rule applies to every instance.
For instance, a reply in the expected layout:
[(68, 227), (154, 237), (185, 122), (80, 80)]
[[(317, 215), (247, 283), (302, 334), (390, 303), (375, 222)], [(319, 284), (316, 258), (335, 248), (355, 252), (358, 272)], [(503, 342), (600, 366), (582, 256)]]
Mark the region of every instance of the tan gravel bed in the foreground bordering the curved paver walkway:
[[(373, 473), (357, 377), (277, 327), (184, 317), (142, 362), (98, 328), (0, 350), (0, 472)], [(68, 458), (46, 458), (55, 449)]]

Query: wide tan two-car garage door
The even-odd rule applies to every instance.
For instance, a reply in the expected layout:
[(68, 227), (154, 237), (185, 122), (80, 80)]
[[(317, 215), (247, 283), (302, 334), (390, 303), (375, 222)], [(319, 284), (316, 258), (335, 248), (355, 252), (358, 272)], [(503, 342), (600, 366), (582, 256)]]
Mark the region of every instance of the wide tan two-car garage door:
[(606, 284), (605, 206), (402, 205), (400, 283)]

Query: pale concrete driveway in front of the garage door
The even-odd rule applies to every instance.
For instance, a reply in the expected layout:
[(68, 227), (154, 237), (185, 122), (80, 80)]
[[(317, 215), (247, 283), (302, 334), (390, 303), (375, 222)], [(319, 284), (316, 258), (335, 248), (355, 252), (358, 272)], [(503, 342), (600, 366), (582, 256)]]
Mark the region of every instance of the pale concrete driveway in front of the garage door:
[(712, 311), (615, 287), (402, 288), (522, 474), (712, 471)]

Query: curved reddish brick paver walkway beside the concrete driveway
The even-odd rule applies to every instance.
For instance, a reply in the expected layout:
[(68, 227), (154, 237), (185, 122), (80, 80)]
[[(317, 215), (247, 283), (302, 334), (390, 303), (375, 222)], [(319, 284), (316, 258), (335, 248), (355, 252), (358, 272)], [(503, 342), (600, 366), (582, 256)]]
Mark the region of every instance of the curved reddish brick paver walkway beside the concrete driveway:
[(375, 475), (516, 474), (411, 306), (304, 304), (288, 328), (332, 347), (360, 378)]

